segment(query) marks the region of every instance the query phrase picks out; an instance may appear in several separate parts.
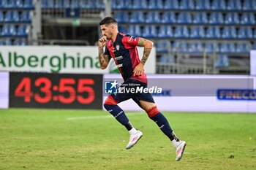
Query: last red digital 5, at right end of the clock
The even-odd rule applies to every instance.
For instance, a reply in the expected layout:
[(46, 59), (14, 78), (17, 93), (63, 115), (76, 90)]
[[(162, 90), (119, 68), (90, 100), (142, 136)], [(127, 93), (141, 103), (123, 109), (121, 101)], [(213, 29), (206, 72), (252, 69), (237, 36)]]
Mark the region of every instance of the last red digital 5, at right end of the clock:
[(78, 95), (78, 102), (80, 104), (90, 104), (94, 101), (95, 93), (94, 89), (89, 87), (88, 85), (94, 85), (94, 80), (92, 79), (80, 79), (78, 81), (78, 93), (88, 93), (88, 97), (83, 98), (82, 95)]

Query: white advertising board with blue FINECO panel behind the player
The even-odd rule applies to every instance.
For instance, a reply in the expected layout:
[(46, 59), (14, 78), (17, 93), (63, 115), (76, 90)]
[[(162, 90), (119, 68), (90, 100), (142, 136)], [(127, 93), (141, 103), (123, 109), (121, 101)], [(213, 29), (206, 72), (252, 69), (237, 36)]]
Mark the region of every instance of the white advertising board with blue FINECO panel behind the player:
[[(105, 81), (118, 80), (118, 74), (105, 74)], [(255, 112), (256, 77), (232, 75), (167, 75), (149, 74), (148, 88), (157, 86), (164, 93), (154, 95), (161, 111), (171, 112)], [(166, 95), (167, 94), (167, 95)], [(103, 85), (103, 103), (105, 94)], [(138, 111), (134, 101), (118, 104), (127, 111)]]

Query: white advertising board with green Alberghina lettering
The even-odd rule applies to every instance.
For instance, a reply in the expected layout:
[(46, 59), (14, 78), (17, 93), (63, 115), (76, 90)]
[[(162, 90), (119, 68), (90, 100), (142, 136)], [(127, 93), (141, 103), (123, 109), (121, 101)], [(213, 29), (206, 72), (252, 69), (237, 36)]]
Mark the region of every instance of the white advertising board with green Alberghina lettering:
[[(138, 52), (141, 57), (143, 47), (138, 48)], [(4, 46), (0, 50), (0, 71), (104, 74), (113, 69), (110, 67), (105, 70), (99, 68), (97, 46)], [(155, 48), (145, 70), (156, 72)]]

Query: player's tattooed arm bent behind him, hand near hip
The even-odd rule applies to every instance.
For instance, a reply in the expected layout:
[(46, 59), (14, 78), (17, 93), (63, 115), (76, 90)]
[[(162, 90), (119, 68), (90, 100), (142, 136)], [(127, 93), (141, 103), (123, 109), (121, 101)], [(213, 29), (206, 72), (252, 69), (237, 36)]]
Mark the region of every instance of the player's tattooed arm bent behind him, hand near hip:
[(144, 47), (144, 50), (143, 50), (143, 56), (141, 58), (140, 63), (137, 66), (135, 66), (135, 69), (133, 70), (134, 76), (140, 76), (143, 73), (144, 65), (148, 60), (148, 57), (151, 53), (153, 45), (154, 43), (151, 42), (150, 40), (139, 38), (138, 46)]

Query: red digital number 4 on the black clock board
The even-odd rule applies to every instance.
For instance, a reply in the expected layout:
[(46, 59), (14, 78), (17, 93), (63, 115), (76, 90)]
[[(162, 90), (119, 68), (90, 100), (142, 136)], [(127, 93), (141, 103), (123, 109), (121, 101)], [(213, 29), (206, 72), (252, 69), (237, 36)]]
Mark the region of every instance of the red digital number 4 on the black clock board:
[(24, 77), (20, 84), (18, 84), (17, 88), (15, 89), (15, 96), (16, 97), (23, 97), (26, 103), (31, 101), (31, 80), (29, 77)]

